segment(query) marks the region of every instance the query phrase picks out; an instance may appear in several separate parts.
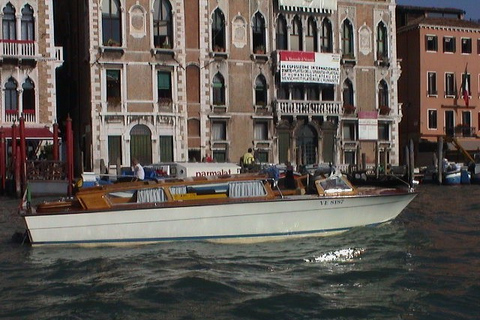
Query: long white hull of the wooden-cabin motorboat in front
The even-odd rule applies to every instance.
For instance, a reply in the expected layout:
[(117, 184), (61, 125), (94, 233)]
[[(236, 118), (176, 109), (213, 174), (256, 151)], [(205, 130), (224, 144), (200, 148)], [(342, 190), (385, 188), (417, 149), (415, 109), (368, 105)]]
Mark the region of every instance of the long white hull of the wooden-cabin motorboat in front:
[(329, 235), (393, 220), (416, 193), (290, 196), (283, 199), (146, 209), (26, 214), (32, 244), (175, 240), (253, 242)]

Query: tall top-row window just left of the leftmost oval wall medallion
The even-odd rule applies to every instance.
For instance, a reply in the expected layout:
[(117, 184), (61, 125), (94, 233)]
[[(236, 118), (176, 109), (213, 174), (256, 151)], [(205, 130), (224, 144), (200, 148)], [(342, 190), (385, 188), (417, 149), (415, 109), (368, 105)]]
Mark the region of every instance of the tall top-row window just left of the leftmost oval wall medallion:
[(104, 46), (122, 45), (122, 19), (119, 0), (103, 0), (102, 33)]

